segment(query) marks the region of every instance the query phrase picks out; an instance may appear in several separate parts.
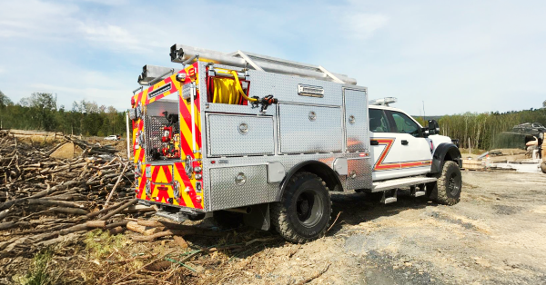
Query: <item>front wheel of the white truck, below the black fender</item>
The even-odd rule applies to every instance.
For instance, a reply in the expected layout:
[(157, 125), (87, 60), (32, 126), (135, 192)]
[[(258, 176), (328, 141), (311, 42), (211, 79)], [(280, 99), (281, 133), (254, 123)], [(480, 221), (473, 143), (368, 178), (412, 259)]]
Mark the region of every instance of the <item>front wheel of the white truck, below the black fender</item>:
[(444, 162), (437, 182), (427, 184), (427, 195), (430, 200), (443, 205), (455, 205), (460, 201), (462, 175), (457, 162)]

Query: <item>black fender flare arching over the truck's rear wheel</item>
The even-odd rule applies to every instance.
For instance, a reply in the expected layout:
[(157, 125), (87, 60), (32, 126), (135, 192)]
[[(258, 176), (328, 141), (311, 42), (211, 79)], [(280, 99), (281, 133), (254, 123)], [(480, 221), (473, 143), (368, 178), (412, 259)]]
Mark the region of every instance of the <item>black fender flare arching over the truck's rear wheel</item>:
[(320, 178), (322, 178), (324, 182), (326, 182), (326, 185), (329, 187), (329, 191), (334, 191), (337, 188), (339, 189), (339, 191), (343, 191), (343, 186), (341, 184), (341, 181), (339, 180), (338, 174), (336, 174), (336, 172), (334, 172), (334, 170), (329, 167), (328, 164), (319, 161), (305, 161), (299, 162), (298, 164), (294, 165), (287, 173), (285, 178), (282, 180), (282, 182), (280, 182), (279, 192), (276, 201), (280, 201), (280, 198), (287, 188), (288, 182), (290, 181), (292, 176), (294, 176), (294, 174), (300, 171), (317, 174)]

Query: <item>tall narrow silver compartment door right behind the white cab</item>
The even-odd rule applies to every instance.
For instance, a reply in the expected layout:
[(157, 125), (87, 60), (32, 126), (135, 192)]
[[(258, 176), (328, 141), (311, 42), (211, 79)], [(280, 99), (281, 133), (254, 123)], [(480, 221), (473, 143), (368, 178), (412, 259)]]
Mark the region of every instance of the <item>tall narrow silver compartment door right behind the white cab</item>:
[(345, 89), (347, 151), (368, 151), (368, 100), (365, 90)]

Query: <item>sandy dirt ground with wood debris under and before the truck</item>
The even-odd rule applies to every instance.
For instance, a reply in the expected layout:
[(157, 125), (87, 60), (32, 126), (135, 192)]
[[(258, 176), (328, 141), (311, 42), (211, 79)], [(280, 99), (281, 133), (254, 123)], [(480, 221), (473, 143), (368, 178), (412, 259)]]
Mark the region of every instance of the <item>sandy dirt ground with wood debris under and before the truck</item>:
[[(53, 248), (48, 268), (62, 269), (50, 275), (66, 284), (546, 284), (546, 174), (463, 172), (455, 206), (407, 191), (388, 205), (355, 192), (332, 194), (332, 201), (338, 220), (326, 237), (306, 244), (239, 228), (221, 238), (187, 236), (184, 250), (169, 238), (136, 242), (130, 231), (93, 231)], [(206, 219), (197, 226), (215, 225)], [(238, 247), (186, 258), (231, 244)], [(24, 276), (31, 262), (3, 260), (0, 283)]]

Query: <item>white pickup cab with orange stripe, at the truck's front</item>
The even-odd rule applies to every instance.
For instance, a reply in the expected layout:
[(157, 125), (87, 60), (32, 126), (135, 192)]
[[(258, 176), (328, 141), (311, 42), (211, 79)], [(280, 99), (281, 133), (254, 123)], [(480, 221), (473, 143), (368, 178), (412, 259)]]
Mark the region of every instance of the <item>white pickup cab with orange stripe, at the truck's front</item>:
[[(381, 201), (396, 201), (398, 189), (394, 189), (391, 197), (380, 191), (383, 184), (392, 183), (398, 183), (400, 187), (405, 186), (404, 184), (410, 185), (412, 195), (428, 195), (440, 203), (452, 205), (460, 200), (460, 152), (449, 137), (435, 134), (438, 133), (435, 126), (437, 123), (431, 121), (431, 124), (432, 127), (427, 130), (402, 110), (387, 105), (369, 105), (369, 138), (374, 182), (371, 191), (382, 193)], [(446, 173), (443, 173), (446, 161), (448, 165)], [(449, 177), (442, 177), (442, 174)], [(437, 181), (439, 178), (441, 180)], [(424, 182), (411, 185), (419, 181)], [(439, 182), (443, 183), (440, 189), (445, 192), (440, 193), (440, 198)], [(420, 186), (420, 191), (416, 186)]]

